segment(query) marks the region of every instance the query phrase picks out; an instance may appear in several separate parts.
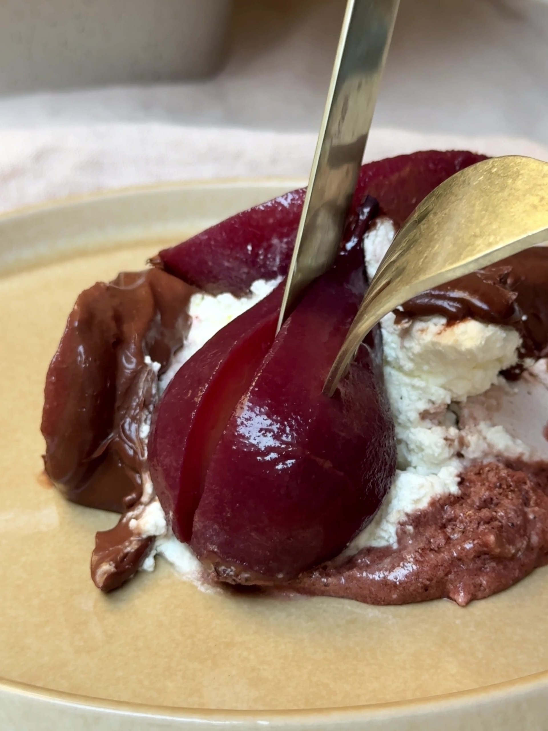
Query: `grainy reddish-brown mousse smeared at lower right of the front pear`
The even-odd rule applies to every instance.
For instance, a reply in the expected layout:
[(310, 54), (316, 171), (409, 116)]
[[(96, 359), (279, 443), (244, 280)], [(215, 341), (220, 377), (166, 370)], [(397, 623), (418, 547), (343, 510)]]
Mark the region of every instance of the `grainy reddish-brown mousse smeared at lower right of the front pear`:
[(396, 549), (362, 549), (286, 588), (376, 605), (447, 597), (465, 606), (503, 591), (547, 563), (548, 463), (472, 466), (460, 495), (411, 515), (397, 538)]

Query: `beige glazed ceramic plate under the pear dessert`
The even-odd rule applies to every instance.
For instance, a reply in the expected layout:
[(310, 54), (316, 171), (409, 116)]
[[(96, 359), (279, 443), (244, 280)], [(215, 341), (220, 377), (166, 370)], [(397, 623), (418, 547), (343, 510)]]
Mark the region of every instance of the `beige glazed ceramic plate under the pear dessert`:
[(42, 387), (80, 289), (298, 181), (199, 183), (0, 219), (0, 727), (545, 728), (548, 572), (461, 609), (204, 594), (167, 565), (89, 578), (108, 513), (40, 479)]

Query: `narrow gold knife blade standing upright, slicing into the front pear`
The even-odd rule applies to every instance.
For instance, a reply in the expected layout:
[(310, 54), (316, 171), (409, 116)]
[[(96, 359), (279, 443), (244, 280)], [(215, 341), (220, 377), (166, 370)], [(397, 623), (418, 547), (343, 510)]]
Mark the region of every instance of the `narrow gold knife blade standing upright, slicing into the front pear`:
[(278, 330), (330, 268), (356, 189), (400, 0), (348, 0), (302, 207)]

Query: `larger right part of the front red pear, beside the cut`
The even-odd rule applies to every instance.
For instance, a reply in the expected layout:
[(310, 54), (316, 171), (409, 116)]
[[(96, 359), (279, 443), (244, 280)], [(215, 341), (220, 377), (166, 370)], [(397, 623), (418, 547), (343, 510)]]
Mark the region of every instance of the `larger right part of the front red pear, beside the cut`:
[(340, 553), (395, 472), (378, 331), (334, 398), (324, 379), (365, 292), (361, 246), (283, 325), (208, 468), (191, 546), (224, 580), (275, 583)]

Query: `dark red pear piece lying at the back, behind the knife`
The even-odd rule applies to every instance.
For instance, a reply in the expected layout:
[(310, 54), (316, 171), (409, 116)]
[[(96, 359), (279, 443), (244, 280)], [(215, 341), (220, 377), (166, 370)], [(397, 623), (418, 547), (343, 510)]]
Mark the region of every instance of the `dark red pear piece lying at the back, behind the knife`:
[[(349, 212), (350, 224), (365, 195), (399, 227), (436, 186), (485, 159), (464, 151), (427, 151), (362, 166)], [(256, 279), (286, 276), (305, 189), (237, 213), (178, 246), (160, 251), (155, 262), (205, 292), (243, 295)], [(348, 238), (348, 237), (347, 237)]]

